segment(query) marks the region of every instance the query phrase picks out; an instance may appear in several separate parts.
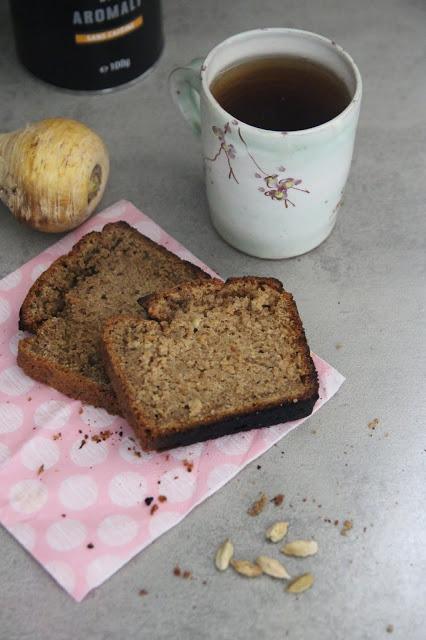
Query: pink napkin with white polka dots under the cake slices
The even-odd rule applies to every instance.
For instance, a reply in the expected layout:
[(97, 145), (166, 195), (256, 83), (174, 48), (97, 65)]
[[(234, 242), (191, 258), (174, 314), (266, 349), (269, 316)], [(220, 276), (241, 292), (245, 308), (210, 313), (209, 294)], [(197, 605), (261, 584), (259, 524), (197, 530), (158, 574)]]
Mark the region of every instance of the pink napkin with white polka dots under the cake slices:
[[(0, 522), (78, 601), (303, 422), (147, 454), (123, 419), (82, 406), (21, 371), (18, 313), (31, 283), (83, 234), (114, 220), (126, 220), (214, 275), (121, 201), (0, 281)], [(317, 411), (343, 377), (314, 360)]]

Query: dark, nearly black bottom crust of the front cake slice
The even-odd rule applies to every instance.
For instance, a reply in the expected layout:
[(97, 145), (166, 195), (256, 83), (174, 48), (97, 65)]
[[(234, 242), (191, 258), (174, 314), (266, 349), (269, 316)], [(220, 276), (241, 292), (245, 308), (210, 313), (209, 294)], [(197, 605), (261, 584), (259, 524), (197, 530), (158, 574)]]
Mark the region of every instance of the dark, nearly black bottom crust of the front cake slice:
[(283, 404), (263, 409), (246, 415), (232, 416), (226, 420), (211, 424), (200, 424), (186, 431), (173, 431), (152, 438), (146, 444), (149, 449), (163, 451), (174, 447), (182, 447), (204, 440), (220, 438), (241, 431), (249, 431), (257, 427), (271, 427), (311, 415), (318, 395), (297, 403)]

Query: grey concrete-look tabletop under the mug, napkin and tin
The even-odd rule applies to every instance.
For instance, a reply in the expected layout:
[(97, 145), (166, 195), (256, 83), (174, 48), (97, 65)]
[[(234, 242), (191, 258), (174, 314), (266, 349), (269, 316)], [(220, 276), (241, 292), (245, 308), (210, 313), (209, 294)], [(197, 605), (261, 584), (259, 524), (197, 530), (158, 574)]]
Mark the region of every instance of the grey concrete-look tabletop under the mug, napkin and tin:
[[(53, 115), (96, 128), (112, 152), (103, 204), (133, 201), (223, 276), (282, 279), (296, 297), (312, 348), (347, 381), (317, 415), (81, 604), (1, 529), (0, 638), (421, 640), (426, 633), (426, 5), (422, 0), (165, 0), (164, 14), (166, 49), (152, 75), (110, 95), (80, 96), (43, 85), (20, 67), (3, 0), (0, 130)], [(238, 253), (212, 230), (198, 142), (171, 104), (166, 85), (173, 65), (206, 53), (226, 36), (278, 25), (317, 31), (341, 43), (361, 69), (365, 98), (335, 231), (305, 256), (268, 262)], [(2, 276), (54, 238), (23, 228), (3, 207), (0, 217)], [(375, 417), (380, 423), (371, 431), (367, 423)], [(314, 535), (319, 542), (320, 553), (309, 562), (316, 584), (299, 598), (276, 582), (217, 575), (213, 568), (213, 553), (225, 536), (238, 540), (247, 556), (258, 551), (267, 518), (251, 519), (246, 508), (261, 490), (285, 493), (283, 514), (293, 534)], [(352, 519), (353, 529), (343, 537), (324, 518)], [(190, 568), (195, 579), (175, 578), (176, 562)], [(149, 595), (140, 598), (140, 588)]]

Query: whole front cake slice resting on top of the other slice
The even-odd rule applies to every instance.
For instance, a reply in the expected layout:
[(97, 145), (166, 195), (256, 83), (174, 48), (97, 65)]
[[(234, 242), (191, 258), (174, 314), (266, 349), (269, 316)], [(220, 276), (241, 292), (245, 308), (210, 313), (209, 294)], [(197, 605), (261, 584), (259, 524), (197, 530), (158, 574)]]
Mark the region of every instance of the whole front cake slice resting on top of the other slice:
[(317, 373), (278, 280), (182, 284), (148, 296), (148, 319), (110, 318), (106, 370), (144, 449), (168, 449), (302, 418)]

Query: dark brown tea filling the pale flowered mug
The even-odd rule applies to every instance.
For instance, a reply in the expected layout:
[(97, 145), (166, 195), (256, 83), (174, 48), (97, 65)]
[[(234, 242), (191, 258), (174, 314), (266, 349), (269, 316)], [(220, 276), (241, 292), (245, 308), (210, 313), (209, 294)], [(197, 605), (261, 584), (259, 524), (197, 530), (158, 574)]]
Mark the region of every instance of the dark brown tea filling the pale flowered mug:
[(288, 55), (229, 67), (214, 78), (210, 90), (234, 118), (270, 131), (316, 127), (339, 115), (352, 97), (330, 69)]

